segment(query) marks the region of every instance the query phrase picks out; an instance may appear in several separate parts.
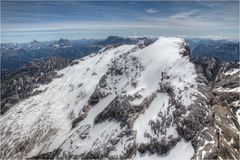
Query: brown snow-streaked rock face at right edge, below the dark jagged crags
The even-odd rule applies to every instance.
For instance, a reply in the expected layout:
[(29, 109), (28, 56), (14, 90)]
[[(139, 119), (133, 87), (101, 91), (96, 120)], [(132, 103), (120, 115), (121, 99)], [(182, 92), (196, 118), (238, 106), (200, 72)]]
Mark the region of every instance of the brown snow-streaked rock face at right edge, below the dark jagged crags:
[(222, 159), (239, 159), (240, 89), (239, 63), (221, 67), (213, 89), (213, 108), (218, 137), (218, 153)]

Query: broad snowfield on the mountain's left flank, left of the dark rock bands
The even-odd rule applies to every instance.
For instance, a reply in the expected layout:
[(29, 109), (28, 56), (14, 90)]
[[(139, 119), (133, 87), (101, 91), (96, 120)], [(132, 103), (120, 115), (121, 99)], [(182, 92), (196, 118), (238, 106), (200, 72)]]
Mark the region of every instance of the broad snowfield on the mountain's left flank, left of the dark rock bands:
[[(79, 113), (94, 92), (99, 79), (107, 71), (107, 64), (115, 54), (126, 52), (133, 47), (121, 46), (106, 53), (91, 55), (79, 60), (79, 65), (61, 70), (58, 74), (64, 74), (62, 78), (38, 88), (38, 90), (46, 90), (45, 92), (19, 103), (2, 117), (1, 131), (6, 133), (1, 136), (2, 146), (18, 146), (22, 145), (19, 142), (26, 141), (29, 145), (28, 148), (24, 148), (24, 152), (34, 148), (30, 156), (38, 154), (45, 147), (47, 147), (46, 151), (58, 147), (64, 140), (63, 136), (68, 137), (72, 118)], [(100, 59), (102, 61), (98, 63)], [(93, 75), (96, 72), (98, 75)], [(7, 134), (9, 129), (16, 136)], [(35, 143), (38, 143), (36, 147)], [(16, 156), (14, 158), (21, 155)]]

